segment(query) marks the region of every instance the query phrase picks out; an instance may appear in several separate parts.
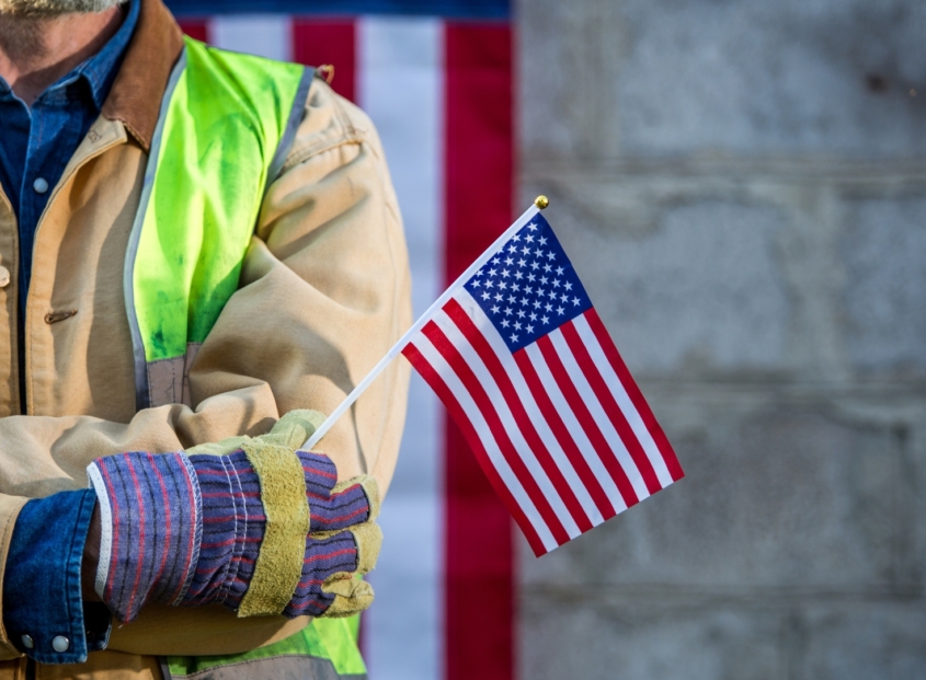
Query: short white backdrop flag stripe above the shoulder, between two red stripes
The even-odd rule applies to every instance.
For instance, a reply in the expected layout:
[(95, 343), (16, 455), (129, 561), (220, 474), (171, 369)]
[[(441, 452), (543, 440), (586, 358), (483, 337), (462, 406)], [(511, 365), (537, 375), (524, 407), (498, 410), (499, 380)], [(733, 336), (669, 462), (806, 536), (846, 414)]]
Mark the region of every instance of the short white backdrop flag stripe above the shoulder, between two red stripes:
[(209, 39), (222, 49), (290, 61), (291, 25), (288, 14), (220, 14), (209, 20)]

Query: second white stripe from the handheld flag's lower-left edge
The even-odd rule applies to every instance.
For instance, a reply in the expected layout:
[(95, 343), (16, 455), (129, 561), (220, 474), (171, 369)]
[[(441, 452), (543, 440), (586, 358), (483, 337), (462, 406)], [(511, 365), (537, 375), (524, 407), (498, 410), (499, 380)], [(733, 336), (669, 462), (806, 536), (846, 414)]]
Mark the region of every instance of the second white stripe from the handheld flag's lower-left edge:
[[(437, 327), (444, 331), (444, 335), (446, 335), (447, 339), (449, 339), (454, 347), (457, 348), (464, 360), (472, 370), (476, 379), (479, 381), (479, 384), (485, 390), (485, 394), (489, 396), (492, 408), (495, 411), (499, 420), (501, 420), (502, 427), (505, 428), (505, 433), (507, 434), (512, 446), (514, 446), (514, 449), (517, 451), (521, 460), (524, 461), (527, 471), (530, 473), (530, 476), (534, 477), (537, 486), (544, 494), (544, 497), (549, 502), (550, 507), (553, 509), (553, 512), (556, 514), (557, 519), (560, 520), (563, 529), (565, 529), (569, 538), (574, 539), (582, 533), (582, 531), (580, 531), (579, 527), (575, 525), (575, 520), (572, 519), (572, 515), (570, 515), (569, 509), (565, 507), (565, 504), (562, 502), (562, 498), (552, 482), (550, 482), (546, 471), (540, 465), (540, 462), (537, 460), (534, 451), (530, 450), (527, 441), (524, 439), (524, 435), (517, 426), (514, 415), (512, 415), (511, 408), (508, 407), (508, 403), (505, 401), (502, 391), (499, 389), (492, 372), (485, 367), (482, 358), (476, 349), (472, 348), (472, 345), (469, 344), (469, 341), (464, 336), (462, 332), (457, 327), (453, 320), (447, 316), (446, 312), (443, 310), (438, 311), (434, 314), (433, 321), (437, 324)], [(490, 333), (498, 335), (498, 331), (494, 329), (492, 329)]]

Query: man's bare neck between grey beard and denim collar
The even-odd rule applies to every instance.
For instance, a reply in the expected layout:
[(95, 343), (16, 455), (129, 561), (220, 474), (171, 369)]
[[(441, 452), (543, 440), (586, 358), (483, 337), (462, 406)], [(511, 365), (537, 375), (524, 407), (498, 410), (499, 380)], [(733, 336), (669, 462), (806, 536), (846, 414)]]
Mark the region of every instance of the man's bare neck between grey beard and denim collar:
[(119, 30), (121, 7), (98, 13), (20, 16), (0, 13), (0, 76), (27, 105)]

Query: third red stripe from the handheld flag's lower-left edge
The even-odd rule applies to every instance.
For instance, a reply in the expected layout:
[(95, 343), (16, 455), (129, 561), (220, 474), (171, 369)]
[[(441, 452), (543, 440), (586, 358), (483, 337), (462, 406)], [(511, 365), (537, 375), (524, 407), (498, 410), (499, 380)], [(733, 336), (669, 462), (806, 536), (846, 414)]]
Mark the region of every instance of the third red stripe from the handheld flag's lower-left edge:
[(469, 318), (469, 314), (464, 311), (460, 303), (456, 300), (447, 302), (444, 307), (444, 311), (460, 330), (460, 333), (462, 333), (467, 341), (469, 341), (469, 344), (476, 350), (476, 354), (478, 354), (482, 359), (482, 362), (485, 364), (485, 368), (488, 368), (489, 372), (495, 378), (495, 383), (499, 385), (499, 390), (502, 392), (502, 396), (514, 416), (517, 428), (524, 436), (527, 446), (530, 447), (530, 450), (537, 457), (537, 462), (540, 463), (544, 472), (547, 473), (547, 476), (550, 479), (550, 482), (553, 484), (553, 487), (557, 489), (560, 498), (562, 498), (563, 504), (565, 504), (573, 521), (579, 526), (579, 530), (583, 533), (588, 531), (592, 528), (592, 521), (585, 515), (585, 510), (582, 509), (579, 498), (573, 493), (569, 482), (565, 481), (565, 477), (562, 475), (562, 471), (560, 471), (553, 460), (553, 457), (550, 454), (544, 443), (544, 440), (540, 438), (540, 435), (538, 435), (537, 430), (534, 428), (534, 425), (524, 408), (522, 399), (517, 394), (517, 390), (515, 390), (511, 378), (508, 378), (505, 367), (502, 366), (498, 355), (489, 345), (489, 341), (487, 341), (485, 336), (482, 335), (480, 330), (476, 327), (472, 319)]

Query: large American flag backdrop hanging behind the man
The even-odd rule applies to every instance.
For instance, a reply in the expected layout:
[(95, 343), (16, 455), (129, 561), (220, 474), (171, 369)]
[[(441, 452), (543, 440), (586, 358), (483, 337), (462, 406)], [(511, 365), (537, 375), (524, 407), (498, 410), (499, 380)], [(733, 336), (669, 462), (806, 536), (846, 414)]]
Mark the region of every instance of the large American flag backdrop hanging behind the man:
[[(416, 314), (512, 222), (507, 0), (168, 4), (190, 35), (213, 45), (334, 65), (332, 87), (371, 116), (386, 148)], [(513, 678), (512, 520), (416, 373), (380, 521), (387, 540), (362, 636), (371, 678)]]

